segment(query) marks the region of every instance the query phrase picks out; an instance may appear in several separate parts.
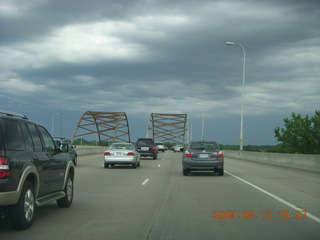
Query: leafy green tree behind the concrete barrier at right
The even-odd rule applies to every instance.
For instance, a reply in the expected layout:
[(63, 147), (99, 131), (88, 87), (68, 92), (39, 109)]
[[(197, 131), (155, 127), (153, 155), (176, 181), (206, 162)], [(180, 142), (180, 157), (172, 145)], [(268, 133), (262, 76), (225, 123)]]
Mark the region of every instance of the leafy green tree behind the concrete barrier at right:
[(313, 117), (302, 117), (292, 113), (292, 119), (285, 118), (285, 128), (277, 127), (275, 137), (282, 152), (319, 154), (320, 153), (320, 111)]

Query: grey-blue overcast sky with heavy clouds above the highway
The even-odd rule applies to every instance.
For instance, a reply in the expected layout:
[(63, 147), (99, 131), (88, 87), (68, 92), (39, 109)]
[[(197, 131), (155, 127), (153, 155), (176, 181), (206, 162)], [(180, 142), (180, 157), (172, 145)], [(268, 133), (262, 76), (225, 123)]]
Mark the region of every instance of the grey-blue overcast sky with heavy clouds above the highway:
[(68, 138), (88, 110), (125, 112), (132, 140), (150, 113), (187, 113), (193, 138), (204, 117), (205, 138), (238, 144), (244, 53), (227, 41), (246, 51), (244, 145), (320, 110), (318, 0), (0, 0), (0, 34), (0, 109)]

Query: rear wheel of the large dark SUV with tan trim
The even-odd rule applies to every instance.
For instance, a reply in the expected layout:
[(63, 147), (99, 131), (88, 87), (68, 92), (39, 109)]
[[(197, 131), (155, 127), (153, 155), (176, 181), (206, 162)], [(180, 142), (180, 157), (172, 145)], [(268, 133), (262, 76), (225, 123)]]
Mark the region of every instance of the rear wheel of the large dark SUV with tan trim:
[(35, 197), (33, 185), (26, 181), (18, 203), (9, 209), (9, 219), (14, 229), (28, 229), (33, 222)]

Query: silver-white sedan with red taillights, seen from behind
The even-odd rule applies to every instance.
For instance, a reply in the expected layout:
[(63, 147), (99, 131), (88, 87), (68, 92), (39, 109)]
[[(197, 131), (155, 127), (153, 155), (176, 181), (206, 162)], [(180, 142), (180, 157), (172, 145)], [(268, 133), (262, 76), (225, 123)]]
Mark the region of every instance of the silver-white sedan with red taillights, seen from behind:
[(104, 152), (104, 167), (109, 168), (109, 165), (115, 164), (140, 167), (140, 153), (132, 143), (112, 143)]

